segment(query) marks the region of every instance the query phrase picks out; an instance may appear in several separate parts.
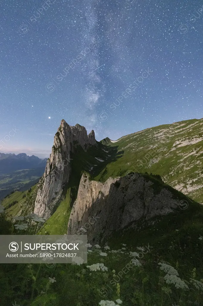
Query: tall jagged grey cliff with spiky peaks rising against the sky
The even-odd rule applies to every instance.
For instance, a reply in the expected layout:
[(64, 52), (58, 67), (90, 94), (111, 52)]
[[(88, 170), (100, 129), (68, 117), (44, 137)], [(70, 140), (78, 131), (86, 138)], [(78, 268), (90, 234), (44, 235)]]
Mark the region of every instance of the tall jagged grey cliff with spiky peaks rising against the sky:
[(96, 144), (94, 131), (89, 135), (84, 126), (70, 126), (65, 120), (54, 136), (52, 153), (47, 160), (45, 173), (39, 181), (34, 213), (48, 219), (60, 200), (64, 186), (69, 182), (71, 173), (70, 153), (80, 145), (87, 150)]

